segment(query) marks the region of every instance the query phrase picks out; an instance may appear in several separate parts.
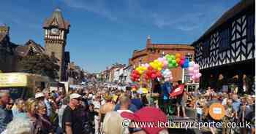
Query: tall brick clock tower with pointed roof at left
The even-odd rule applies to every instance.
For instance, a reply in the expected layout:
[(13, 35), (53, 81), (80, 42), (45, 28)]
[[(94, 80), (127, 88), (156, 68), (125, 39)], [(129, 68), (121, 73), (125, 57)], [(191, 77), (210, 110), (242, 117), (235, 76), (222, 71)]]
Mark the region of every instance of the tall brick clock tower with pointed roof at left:
[(64, 68), (64, 52), (69, 33), (69, 21), (64, 20), (61, 9), (54, 10), (53, 15), (45, 20), (45, 53), (59, 60), (59, 81), (64, 79), (66, 69)]

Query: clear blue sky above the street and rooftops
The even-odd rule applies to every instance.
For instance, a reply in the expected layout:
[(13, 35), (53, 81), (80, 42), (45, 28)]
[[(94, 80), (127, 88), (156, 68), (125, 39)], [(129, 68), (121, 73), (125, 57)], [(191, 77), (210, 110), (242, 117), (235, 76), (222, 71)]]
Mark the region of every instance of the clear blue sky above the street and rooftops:
[(192, 44), (239, 0), (8, 0), (1, 1), (0, 24), (11, 42), (29, 39), (44, 46), (42, 24), (59, 7), (71, 27), (70, 60), (89, 72), (128, 64), (133, 50), (153, 43)]

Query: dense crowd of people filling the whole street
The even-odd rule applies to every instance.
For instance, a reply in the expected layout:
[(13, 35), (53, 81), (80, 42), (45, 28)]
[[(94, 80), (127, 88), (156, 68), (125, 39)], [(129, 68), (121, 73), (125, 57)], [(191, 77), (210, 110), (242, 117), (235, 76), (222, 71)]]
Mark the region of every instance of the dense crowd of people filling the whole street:
[[(146, 85), (143, 85), (146, 87)], [(182, 92), (173, 95), (173, 90)], [(122, 126), (129, 122), (167, 122), (169, 116), (187, 117), (187, 109), (194, 109), (198, 122), (209, 122), (211, 103), (225, 106), (221, 122), (250, 122), (250, 128), (223, 128), (222, 133), (255, 133), (255, 95), (235, 92), (184, 90), (181, 81), (155, 81), (147, 93), (139, 93), (127, 86), (125, 90), (93, 84), (69, 92), (37, 90), (34, 98), (12, 100), (8, 90), (0, 90), (1, 134), (143, 134), (169, 133), (167, 128)], [(138, 120), (139, 119), (139, 120)], [(220, 121), (216, 121), (220, 122)], [(211, 126), (211, 133), (218, 133)]]

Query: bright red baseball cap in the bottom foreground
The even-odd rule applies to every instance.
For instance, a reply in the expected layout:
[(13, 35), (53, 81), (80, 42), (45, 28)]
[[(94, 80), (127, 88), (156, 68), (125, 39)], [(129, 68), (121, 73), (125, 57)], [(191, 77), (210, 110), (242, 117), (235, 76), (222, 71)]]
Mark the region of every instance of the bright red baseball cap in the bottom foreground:
[[(136, 111), (134, 114), (124, 111), (121, 113), (121, 117), (125, 119), (131, 119), (135, 122), (154, 122), (154, 125), (157, 125), (158, 122), (167, 122), (167, 116), (163, 111), (153, 107), (144, 107), (139, 111)], [(164, 127), (151, 127), (151, 126), (141, 126), (143, 130), (146, 131), (148, 134), (157, 134), (161, 130), (165, 129)]]

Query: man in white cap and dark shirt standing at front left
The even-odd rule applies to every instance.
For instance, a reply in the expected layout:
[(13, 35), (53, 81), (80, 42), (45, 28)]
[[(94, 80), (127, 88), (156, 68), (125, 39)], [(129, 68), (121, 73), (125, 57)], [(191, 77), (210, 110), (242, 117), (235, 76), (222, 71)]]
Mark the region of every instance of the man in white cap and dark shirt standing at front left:
[(76, 122), (75, 109), (80, 105), (81, 95), (78, 93), (72, 93), (69, 96), (69, 105), (64, 109), (62, 117), (62, 129), (66, 134), (80, 134), (82, 133), (79, 128), (81, 127), (78, 122)]

